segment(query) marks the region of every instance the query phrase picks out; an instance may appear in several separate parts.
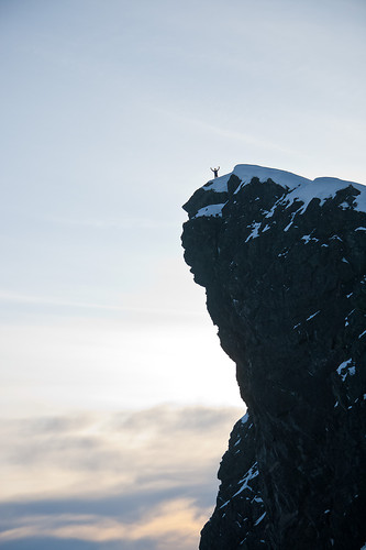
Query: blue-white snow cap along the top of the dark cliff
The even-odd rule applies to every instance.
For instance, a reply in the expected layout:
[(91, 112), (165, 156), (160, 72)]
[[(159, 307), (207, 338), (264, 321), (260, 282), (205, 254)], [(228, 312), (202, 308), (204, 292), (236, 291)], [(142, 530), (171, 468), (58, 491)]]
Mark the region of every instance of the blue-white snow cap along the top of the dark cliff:
[[(233, 172), (210, 180), (202, 187), (202, 189), (212, 190), (214, 193), (228, 191), (228, 182), (232, 175), (235, 175), (241, 179), (241, 184), (237, 186), (235, 193), (237, 193), (243, 186), (247, 185), (254, 177), (257, 177), (259, 182), (267, 182), (267, 179), (270, 178), (276, 184), (289, 190), (282, 200), (288, 204), (292, 204), (295, 200), (301, 201), (303, 204), (301, 207), (302, 211), (307, 209), (309, 202), (313, 198), (319, 198), (321, 204), (323, 204), (325, 199), (334, 197), (336, 191), (340, 189), (344, 189), (352, 185), (359, 191), (359, 195), (355, 198), (354, 209), (366, 212), (366, 186), (363, 184), (346, 182), (334, 177), (318, 177), (311, 180), (306, 177), (298, 176), (297, 174), (292, 174), (291, 172), (285, 172), (277, 168), (266, 168), (253, 164), (237, 164)], [(223, 205), (220, 206), (222, 207)], [(218, 209), (213, 209), (211, 205), (211, 208), (202, 208), (199, 210), (196, 217), (218, 215)]]

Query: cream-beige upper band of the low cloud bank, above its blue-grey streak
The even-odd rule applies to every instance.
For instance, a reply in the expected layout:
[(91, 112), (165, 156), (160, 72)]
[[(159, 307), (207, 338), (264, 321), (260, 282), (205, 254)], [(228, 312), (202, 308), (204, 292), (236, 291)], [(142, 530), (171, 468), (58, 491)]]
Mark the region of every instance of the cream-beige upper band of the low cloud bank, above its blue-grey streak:
[(136, 491), (136, 480), (145, 487), (153, 482), (156, 487), (159, 481), (166, 488), (174, 480), (179, 484), (188, 472), (190, 482), (201, 477), (207, 464), (224, 451), (226, 438), (220, 439), (228, 435), (234, 416), (241, 416), (240, 409), (160, 405), (136, 411), (1, 420), (0, 437), (8, 446), (0, 460), (8, 466), (26, 466), (27, 472), (42, 469), (44, 476), (48, 469), (70, 475), (79, 472), (84, 477), (104, 472), (104, 481), (99, 480), (102, 486), (111, 481), (129, 493), (131, 486)]

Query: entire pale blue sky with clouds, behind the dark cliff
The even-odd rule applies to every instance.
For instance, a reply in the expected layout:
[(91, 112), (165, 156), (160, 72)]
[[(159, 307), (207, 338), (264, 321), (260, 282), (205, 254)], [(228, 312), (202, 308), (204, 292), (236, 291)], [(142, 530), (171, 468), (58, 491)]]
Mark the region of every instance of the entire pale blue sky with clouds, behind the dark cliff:
[(190, 550), (245, 413), (210, 167), (366, 183), (364, 0), (0, 0), (0, 548)]

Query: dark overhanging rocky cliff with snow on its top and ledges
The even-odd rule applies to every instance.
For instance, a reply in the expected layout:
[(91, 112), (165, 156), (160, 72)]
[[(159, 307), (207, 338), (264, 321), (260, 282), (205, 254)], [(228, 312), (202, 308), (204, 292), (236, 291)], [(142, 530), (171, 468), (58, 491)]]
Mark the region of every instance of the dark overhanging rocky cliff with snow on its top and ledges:
[(247, 414), (201, 550), (366, 541), (366, 187), (239, 165), (184, 206)]

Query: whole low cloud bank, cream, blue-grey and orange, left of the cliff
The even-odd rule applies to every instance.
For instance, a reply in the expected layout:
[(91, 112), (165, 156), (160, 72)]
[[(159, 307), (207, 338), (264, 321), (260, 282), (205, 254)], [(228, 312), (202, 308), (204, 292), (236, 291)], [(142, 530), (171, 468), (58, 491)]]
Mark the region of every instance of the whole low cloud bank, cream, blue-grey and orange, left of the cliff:
[(196, 548), (242, 414), (160, 405), (1, 420), (0, 547), (30, 550), (41, 541), (42, 549), (55, 540), (48, 548)]

